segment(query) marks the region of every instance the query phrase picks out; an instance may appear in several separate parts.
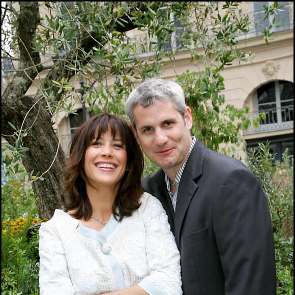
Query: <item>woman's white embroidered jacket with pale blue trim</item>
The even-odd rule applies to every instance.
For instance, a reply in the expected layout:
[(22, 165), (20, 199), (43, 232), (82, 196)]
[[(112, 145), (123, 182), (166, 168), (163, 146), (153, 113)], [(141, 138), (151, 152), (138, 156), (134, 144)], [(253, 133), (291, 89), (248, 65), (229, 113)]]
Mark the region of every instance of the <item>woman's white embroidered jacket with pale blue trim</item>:
[(39, 234), (40, 295), (101, 294), (138, 284), (151, 295), (182, 294), (180, 254), (160, 201), (143, 193), (141, 205), (100, 231), (62, 210)]

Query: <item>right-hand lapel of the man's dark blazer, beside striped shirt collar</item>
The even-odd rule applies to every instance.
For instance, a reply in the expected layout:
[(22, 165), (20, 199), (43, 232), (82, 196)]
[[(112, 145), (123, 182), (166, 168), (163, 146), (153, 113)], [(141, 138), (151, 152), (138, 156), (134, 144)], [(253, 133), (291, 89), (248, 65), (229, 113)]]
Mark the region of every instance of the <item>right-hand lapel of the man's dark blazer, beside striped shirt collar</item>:
[(202, 174), (206, 151), (207, 147), (196, 138), (195, 145), (181, 176), (174, 217), (174, 235), (178, 247), (180, 247), (180, 234), (184, 217), (198, 188), (194, 180)]

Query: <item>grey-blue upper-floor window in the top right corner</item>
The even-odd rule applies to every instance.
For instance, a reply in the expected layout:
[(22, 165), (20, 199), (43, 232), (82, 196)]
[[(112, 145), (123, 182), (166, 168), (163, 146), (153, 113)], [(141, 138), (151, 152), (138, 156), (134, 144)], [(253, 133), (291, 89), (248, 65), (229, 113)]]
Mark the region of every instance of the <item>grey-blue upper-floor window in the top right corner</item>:
[(253, 21), (255, 32), (257, 35), (262, 34), (265, 27), (270, 26), (275, 17), (275, 22), (278, 23), (280, 21), (284, 21), (279, 27), (275, 28), (276, 32), (289, 30), (293, 27), (291, 24), (291, 9), (289, 6), (288, 1), (280, 1), (279, 5), (284, 6), (280, 11), (277, 11), (277, 14), (270, 15), (268, 19), (265, 19), (264, 7), (265, 6), (272, 6), (274, 2), (271, 1), (261, 1), (261, 2), (253, 2)]

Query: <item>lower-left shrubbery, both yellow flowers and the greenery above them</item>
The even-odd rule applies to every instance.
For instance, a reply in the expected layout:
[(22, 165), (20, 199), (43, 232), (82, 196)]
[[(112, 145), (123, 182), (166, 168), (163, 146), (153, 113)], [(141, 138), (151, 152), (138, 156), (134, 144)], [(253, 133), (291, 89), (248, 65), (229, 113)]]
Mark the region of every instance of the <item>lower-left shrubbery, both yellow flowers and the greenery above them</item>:
[[(2, 186), (2, 196), (5, 197), (5, 201), (2, 198), (2, 294), (36, 295), (39, 294), (39, 235), (30, 227), (46, 219), (38, 218), (34, 194), (30, 189), (17, 192), (14, 182)], [(14, 218), (17, 215), (20, 217)]]

